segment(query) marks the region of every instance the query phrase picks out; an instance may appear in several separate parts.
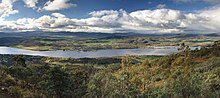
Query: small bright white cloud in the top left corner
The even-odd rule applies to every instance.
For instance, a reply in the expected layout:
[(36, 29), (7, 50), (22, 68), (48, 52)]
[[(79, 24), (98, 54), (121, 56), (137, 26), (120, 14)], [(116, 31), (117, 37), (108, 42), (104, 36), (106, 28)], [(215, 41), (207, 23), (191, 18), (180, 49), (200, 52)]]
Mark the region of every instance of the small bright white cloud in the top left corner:
[(2, 0), (0, 3), (0, 18), (18, 13), (18, 10), (13, 9), (13, 3), (15, 1), (16, 0)]

